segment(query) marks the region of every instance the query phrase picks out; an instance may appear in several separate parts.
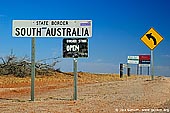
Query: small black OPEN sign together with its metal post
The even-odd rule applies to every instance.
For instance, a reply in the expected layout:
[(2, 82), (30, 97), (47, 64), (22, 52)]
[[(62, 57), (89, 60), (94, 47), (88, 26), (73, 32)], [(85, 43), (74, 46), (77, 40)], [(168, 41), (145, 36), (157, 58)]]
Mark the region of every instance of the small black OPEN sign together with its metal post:
[(73, 100), (77, 100), (78, 58), (87, 58), (87, 57), (88, 57), (87, 38), (64, 38), (63, 39), (63, 58), (73, 58), (73, 73), (74, 73)]

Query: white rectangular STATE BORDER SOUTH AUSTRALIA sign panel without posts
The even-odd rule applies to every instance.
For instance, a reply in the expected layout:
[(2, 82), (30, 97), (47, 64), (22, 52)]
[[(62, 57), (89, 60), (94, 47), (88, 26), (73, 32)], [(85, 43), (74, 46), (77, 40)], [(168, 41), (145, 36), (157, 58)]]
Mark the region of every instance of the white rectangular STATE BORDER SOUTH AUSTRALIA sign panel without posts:
[(13, 37), (92, 37), (92, 20), (13, 20)]

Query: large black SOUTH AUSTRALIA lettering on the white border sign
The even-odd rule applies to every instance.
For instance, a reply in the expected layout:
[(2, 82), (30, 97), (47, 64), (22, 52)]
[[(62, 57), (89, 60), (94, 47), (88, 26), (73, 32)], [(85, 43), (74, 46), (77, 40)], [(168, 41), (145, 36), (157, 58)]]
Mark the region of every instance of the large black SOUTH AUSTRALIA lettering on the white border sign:
[(90, 32), (88, 28), (69, 28), (69, 27), (60, 27), (60, 28), (48, 28), (48, 27), (18, 27), (15, 28), (16, 36), (47, 36), (47, 37), (88, 37)]

